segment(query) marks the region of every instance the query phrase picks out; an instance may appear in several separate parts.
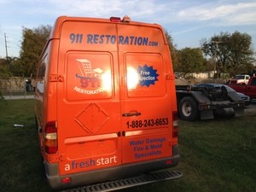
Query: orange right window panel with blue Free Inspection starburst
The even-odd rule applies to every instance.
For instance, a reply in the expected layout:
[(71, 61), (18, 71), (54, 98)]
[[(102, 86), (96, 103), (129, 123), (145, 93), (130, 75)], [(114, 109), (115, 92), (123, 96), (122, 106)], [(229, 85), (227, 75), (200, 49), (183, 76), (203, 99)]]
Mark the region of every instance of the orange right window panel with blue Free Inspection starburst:
[(164, 63), (161, 55), (129, 53), (125, 55), (125, 63), (129, 97), (166, 95)]

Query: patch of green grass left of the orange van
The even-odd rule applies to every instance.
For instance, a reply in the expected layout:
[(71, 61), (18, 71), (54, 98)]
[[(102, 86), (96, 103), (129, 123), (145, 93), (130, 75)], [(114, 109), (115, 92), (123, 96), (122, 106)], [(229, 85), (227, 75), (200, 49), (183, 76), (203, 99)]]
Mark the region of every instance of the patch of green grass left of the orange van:
[(1, 192), (50, 191), (42, 179), (33, 105), (34, 100), (0, 102)]

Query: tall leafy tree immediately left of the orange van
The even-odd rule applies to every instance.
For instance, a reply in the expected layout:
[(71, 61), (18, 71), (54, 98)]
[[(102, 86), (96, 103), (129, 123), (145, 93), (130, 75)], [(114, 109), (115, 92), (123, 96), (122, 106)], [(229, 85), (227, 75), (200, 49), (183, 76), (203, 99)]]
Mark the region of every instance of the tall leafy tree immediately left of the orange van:
[(38, 59), (44, 49), (51, 26), (38, 26), (38, 28), (23, 28), (23, 41), (20, 49), (20, 59), (13, 62), (13, 70), (17, 76), (36, 75)]

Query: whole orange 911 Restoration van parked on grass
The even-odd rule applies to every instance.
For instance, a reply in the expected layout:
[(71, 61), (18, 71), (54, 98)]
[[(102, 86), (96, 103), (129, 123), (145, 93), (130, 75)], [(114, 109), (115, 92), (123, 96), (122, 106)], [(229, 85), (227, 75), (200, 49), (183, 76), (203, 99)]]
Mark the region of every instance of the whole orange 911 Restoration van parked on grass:
[[(36, 100), (53, 189), (124, 182), (177, 166), (174, 74), (159, 25), (127, 16), (59, 17), (38, 63)], [(165, 179), (181, 175), (169, 171)]]

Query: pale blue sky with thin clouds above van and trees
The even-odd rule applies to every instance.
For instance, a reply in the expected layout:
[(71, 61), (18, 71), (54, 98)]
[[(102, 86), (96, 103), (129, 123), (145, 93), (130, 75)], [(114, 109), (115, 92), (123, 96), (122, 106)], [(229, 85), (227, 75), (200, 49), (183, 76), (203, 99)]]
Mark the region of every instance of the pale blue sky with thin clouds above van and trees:
[(0, 0), (0, 58), (20, 55), (22, 27), (53, 26), (60, 15), (123, 17), (158, 23), (178, 49), (200, 47), (220, 32), (246, 32), (256, 51), (255, 0)]

